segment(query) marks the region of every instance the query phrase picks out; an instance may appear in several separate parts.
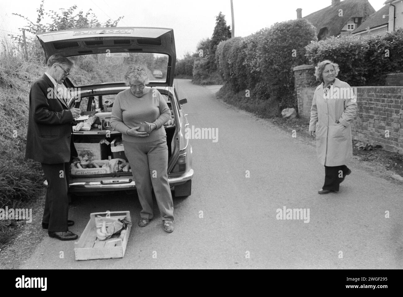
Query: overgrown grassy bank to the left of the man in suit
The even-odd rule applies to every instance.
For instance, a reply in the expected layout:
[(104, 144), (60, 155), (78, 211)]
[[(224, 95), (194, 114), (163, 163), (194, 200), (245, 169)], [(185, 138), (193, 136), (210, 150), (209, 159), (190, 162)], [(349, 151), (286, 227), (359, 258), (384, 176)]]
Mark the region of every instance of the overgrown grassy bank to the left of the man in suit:
[[(44, 67), (12, 52), (0, 54), (0, 208), (27, 208), (43, 189), (39, 163), (25, 160), (30, 84)], [(21, 221), (0, 220), (0, 249), (18, 235)]]

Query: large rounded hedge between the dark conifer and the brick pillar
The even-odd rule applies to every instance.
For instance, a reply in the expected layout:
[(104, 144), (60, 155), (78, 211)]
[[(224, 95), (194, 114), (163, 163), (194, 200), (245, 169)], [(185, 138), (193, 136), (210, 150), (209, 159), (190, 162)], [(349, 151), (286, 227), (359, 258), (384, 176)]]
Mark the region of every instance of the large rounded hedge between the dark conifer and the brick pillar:
[(307, 62), (305, 46), (316, 30), (305, 19), (276, 23), (255, 34), (221, 42), (216, 65), (234, 91), (249, 89), (273, 108), (297, 107), (293, 67)]

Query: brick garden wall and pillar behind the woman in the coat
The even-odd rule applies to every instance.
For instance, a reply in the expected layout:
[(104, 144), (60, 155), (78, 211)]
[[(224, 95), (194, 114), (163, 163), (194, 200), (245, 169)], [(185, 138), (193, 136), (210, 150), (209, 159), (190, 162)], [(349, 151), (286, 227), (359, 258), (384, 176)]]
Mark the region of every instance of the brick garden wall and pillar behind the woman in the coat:
[[(298, 114), (307, 121), (316, 89), (307, 85), (313, 75), (309, 66), (294, 68)], [(353, 139), (403, 153), (403, 87), (357, 87), (357, 104), (357, 116), (351, 122)]]

